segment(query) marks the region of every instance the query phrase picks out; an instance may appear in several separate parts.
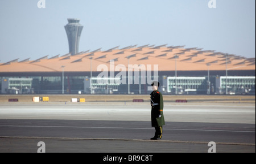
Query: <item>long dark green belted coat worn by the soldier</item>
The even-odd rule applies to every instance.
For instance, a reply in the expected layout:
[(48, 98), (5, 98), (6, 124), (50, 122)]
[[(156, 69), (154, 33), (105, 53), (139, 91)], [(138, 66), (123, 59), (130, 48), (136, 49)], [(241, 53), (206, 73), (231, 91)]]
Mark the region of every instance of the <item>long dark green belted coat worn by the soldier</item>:
[[(163, 115), (163, 96), (158, 90), (151, 92), (151, 124), (152, 127), (160, 127), (165, 124)], [(159, 115), (162, 115), (159, 118)]]

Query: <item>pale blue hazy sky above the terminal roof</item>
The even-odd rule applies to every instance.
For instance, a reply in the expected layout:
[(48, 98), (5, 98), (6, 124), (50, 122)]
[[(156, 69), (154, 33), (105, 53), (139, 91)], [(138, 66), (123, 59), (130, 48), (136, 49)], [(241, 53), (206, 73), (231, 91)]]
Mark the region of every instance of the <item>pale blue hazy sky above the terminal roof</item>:
[(43, 1), (0, 1), (0, 63), (69, 53), (68, 18), (84, 26), (79, 51), (167, 44), (255, 58), (255, 0)]

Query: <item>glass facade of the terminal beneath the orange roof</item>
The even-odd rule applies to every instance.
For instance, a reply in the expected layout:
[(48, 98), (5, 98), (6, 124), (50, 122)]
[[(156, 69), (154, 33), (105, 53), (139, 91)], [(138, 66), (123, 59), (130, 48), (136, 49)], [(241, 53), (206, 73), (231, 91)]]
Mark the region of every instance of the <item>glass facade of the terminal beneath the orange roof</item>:
[[(132, 76), (131, 76), (132, 77)], [(149, 84), (122, 84), (119, 78), (92, 81), (88, 76), (26, 76), (0, 77), (1, 94), (150, 94)], [(163, 94), (253, 94), (255, 95), (255, 76), (211, 76), (208, 77), (177, 77), (159, 76), (160, 90)], [(9, 80), (8, 85), (5, 80)], [(227, 81), (227, 84), (226, 84)], [(119, 84), (121, 82), (121, 84)], [(147, 81), (146, 81), (147, 82)], [(91, 84), (90, 84), (91, 83)], [(92, 88), (92, 90), (91, 90)]]

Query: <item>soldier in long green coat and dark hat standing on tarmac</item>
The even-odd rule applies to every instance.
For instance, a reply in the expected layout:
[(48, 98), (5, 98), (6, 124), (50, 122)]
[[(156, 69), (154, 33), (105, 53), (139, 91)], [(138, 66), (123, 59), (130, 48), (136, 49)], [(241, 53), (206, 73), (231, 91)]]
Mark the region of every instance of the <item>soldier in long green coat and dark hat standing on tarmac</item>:
[(158, 91), (159, 87), (158, 81), (153, 81), (151, 86), (153, 92), (150, 94), (151, 99), (151, 124), (155, 127), (155, 136), (150, 140), (160, 140), (163, 134), (164, 115), (163, 115), (163, 96), (162, 93)]

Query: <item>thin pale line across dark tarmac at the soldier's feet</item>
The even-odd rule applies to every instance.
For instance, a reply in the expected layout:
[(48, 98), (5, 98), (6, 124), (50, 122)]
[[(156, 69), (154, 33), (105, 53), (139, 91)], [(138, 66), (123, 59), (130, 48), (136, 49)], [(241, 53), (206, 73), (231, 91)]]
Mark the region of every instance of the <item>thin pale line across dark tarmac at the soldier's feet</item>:
[[(28, 137), (28, 136), (0, 136), (0, 139), (52, 139), (52, 140), (84, 140), (84, 141), (141, 141), (141, 142), (160, 142), (160, 143), (187, 143), (187, 144), (208, 144), (207, 141), (179, 141), (179, 140), (146, 140), (146, 139), (112, 139), (112, 138), (80, 138), (80, 137)], [(250, 143), (223, 143), (215, 142), (220, 145), (245, 145), (255, 146)]]

